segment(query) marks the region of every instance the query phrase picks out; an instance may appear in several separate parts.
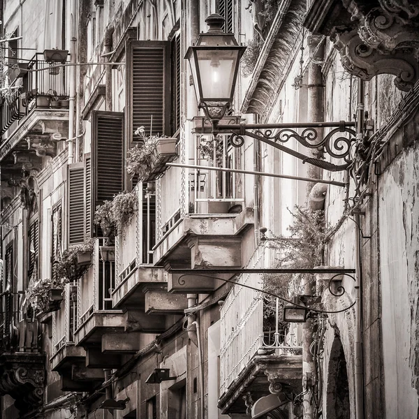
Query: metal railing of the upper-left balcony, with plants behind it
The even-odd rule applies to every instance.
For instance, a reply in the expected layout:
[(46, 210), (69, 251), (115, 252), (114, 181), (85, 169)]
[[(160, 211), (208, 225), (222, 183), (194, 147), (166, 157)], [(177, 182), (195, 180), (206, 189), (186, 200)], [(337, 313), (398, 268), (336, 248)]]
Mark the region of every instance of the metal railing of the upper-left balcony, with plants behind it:
[(13, 82), (13, 87), (18, 88), (1, 106), (0, 135), (35, 108), (68, 108), (69, 68), (49, 69), (54, 63), (41, 58), (43, 54), (35, 54), (28, 63), (29, 71)]

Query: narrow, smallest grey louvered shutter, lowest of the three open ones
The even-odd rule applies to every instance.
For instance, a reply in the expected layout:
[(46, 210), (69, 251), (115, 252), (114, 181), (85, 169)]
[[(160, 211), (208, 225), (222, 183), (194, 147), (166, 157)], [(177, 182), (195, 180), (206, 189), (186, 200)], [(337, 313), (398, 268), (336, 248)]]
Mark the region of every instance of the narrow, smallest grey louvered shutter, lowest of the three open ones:
[(84, 241), (84, 167), (75, 163), (68, 168), (68, 244)]

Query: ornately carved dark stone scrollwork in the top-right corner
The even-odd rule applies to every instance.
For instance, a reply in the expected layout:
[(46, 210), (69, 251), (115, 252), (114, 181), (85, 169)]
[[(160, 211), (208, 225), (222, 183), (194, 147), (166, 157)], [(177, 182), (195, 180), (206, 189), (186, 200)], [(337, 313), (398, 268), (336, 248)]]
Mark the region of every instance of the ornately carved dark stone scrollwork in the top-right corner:
[(395, 75), (398, 89), (419, 80), (419, 4), (407, 0), (314, 0), (304, 20), (314, 34), (330, 36), (346, 70), (371, 80)]

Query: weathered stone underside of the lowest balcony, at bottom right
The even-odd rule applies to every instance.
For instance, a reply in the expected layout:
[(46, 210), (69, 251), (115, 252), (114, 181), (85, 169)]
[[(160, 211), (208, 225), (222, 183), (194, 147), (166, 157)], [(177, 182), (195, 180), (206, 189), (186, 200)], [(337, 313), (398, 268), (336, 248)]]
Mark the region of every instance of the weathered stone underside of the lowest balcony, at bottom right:
[(242, 396), (250, 392), (253, 401), (281, 388), (299, 393), (302, 388), (302, 355), (256, 355), (219, 399), (221, 413), (246, 414)]

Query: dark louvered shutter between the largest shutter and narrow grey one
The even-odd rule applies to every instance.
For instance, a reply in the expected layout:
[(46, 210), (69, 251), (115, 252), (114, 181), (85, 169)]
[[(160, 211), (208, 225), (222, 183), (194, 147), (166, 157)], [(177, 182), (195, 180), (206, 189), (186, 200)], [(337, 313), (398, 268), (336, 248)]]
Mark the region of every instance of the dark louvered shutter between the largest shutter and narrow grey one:
[(94, 208), (124, 189), (124, 113), (94, 111), (92, 185)]

